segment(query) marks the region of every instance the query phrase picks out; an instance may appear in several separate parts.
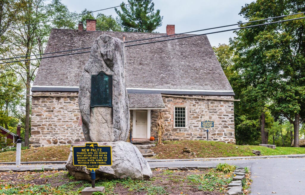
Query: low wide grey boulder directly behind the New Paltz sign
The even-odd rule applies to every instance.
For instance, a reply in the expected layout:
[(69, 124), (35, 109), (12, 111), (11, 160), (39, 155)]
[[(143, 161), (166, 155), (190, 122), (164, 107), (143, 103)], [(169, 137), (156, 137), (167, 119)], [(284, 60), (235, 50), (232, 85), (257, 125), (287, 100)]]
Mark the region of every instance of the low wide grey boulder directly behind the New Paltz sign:
[[(98, 142), (99, 146), (111, 146), (112, 165), (100, 166), (95, 170), (96, 179), (149, 179), (152, 177), (148, 162), (143, 158), (135, 145), (124, 142)], [(84, 146), (85, 143), (79, 142), (72, 146)], [(70, 152), (66, 168), (70, 175), (76, 179), (91, 181), (90, 170), (86, 166), (74, 166), (73, 154)]]

